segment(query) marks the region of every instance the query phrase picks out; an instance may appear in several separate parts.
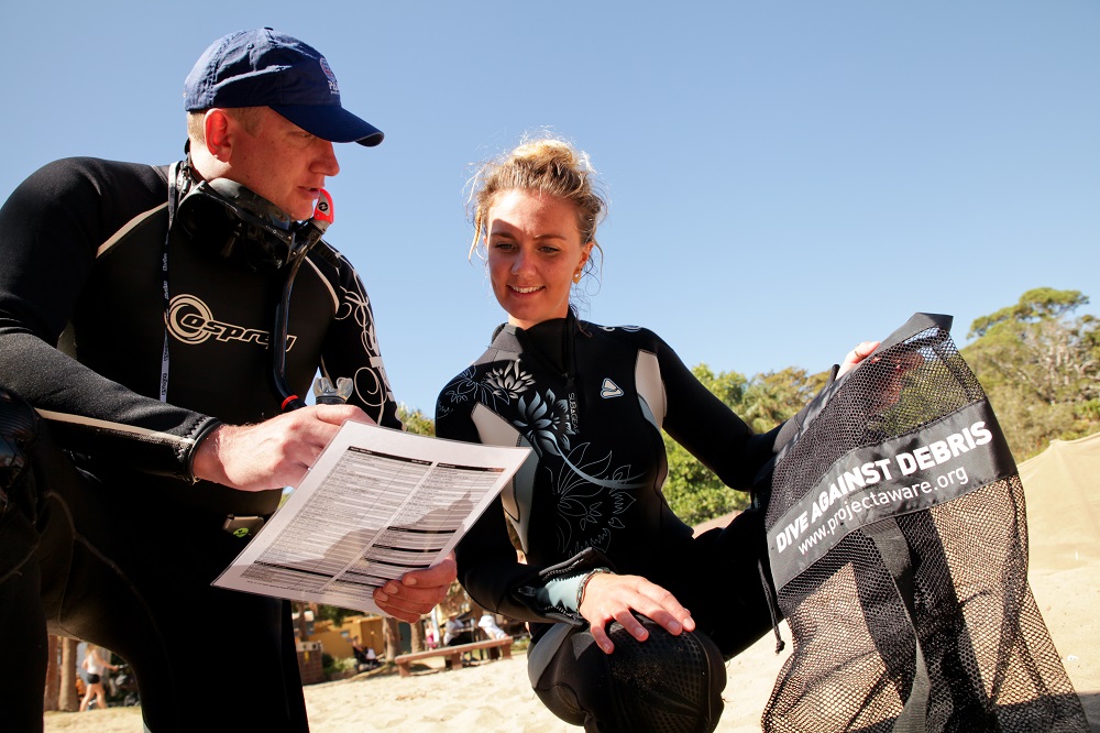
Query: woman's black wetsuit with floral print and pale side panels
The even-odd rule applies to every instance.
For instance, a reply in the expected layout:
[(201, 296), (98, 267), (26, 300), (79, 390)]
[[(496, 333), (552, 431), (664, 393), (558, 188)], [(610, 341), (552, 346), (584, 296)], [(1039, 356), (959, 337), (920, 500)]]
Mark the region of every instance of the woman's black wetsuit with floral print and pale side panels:
[[(661, 428), (743, 490), (787, 436), (787, 428), (754, 435), (649, 330), (602, 327), (572, 314), (528, 330), (498, 329), (490, 349), (443, 389), (436, 408), (439, 437), (532, 448), (512, 485), (459, 544), (463, 587), (487, 609), (535, 622), (538, 639), (548, 622), (581, 623), (578, 581), (606, 566), (670, 590), (725, 657), (759, 638), (774, 621), (761, 581), (762, 512), (693, 538), (661, 493), (668, 472)], [(526, 565), (516, 559), (502, 513)], [(602, 652), (588, 656), (604, 661)], [(603, 672), (559, 661), (536, 689), (570, 686), (585, 709), (592, 701), (576, 688), (586, 682), (562, 677)], [(542, 697), (562, 718), (594, 724), (556, 708), (560, 693)]]

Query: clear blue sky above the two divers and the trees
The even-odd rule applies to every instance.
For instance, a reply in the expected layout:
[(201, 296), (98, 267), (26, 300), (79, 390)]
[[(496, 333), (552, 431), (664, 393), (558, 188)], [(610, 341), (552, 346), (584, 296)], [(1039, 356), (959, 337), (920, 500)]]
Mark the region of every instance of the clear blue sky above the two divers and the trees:
[(1100, 3), (9, 3), (0, 190), (66, 155), (180, 156), (220, 35), (310, 43), (386, 133), (338, 147), (328, 240), (356, 264), (399, 401), (428, 414), (503, 320), (466, 262), (472, 166), (528, 130), (610, 199), (582, 315), (689, 364), (826, 369), (923, 310), (1038, 286), (1100, 303)]

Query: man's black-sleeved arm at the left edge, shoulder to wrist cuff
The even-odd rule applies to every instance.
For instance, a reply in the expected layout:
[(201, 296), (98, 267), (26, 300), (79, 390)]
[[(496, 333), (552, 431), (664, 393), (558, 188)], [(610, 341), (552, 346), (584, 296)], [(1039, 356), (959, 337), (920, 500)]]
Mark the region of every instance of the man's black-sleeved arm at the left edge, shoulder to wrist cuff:
[(67, 448), (189, 478), (195, 446), (216, 420), (136, 394), (57, 349), (97, 250), (166, 199), (163, 171), (95, 158), (51, 163), (12, 193), (0, 208), (0, 384), (50, 419)]

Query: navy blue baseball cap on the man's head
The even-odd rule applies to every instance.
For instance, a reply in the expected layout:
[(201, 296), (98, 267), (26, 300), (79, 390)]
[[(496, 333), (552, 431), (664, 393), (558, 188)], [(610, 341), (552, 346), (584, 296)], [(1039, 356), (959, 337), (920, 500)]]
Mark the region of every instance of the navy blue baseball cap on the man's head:
[(271, 107), (329, 142), (377, 145), (382, 131), (340, 106), (324, 56), (285, 33), (261, 28), (215, 41), (184, 81), (184, 109)]

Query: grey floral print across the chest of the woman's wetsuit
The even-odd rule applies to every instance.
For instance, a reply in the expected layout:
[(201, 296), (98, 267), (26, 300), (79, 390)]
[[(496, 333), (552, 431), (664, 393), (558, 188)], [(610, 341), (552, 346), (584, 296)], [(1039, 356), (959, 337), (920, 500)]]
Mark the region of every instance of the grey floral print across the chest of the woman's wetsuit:
[(497, 363), (480, 379), (477, 373), (471, 366), (447, 385), (440, 413), (475, 400), (498, 415), (510, 415), (512, 425), (550, 478), (557, 499), (558, 550), (563, 557), (588, 547), (606, 553), (615, 532), (626, 528), (623, 516), (635, 503), (635, 492), (644, 488), (644, 474), (632, 474), (630, 466), (615, 466), (610, 452), (590, 456), (591, 442), (573, 446), (568, 401), (553, 390), (539, 393), (518, 361)]

